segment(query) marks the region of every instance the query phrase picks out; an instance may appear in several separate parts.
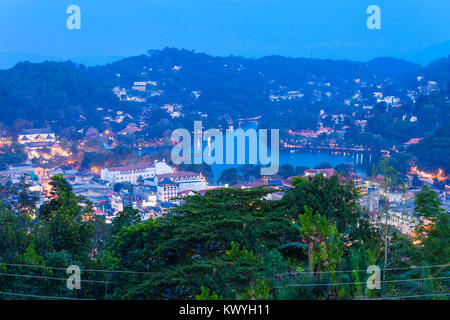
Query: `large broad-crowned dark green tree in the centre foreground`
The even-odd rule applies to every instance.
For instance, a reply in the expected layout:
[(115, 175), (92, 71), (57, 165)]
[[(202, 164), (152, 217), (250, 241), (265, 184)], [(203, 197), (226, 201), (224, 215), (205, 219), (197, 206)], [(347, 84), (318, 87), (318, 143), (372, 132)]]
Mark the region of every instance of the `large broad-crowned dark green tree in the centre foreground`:
[(277, 203), (264, 200), (271, 192), (210, 190), (163, 219), (123, 228), (108, 249), (117, 268), (150, 273), (120, 275), (127, 285), (114, 297), (193, 299), (202, 286), (225, 299), (266, 297), (274, 277), (266, 265), (277, 265), (270, 252), (295, 237)]

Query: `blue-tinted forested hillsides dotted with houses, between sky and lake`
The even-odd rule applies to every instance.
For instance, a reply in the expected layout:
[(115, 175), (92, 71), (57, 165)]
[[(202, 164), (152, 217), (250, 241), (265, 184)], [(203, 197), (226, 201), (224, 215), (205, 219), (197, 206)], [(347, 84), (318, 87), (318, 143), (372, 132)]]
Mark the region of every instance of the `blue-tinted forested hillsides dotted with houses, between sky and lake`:
[[(174, 65), (182, 68), (175, 72)], [(405, 172), (409, 161), (417, 162), (422, 170), (448, 172), (448, 66), (449, 58), (421, 68), (390, 58), (367, 63), (280, 56), (246, 59), (174, 48), (91, 68), (71, 62), (19, 63), (0, 72), (0, 128), (15, 136), (24, 128), (51, 126), (59, 137), (76, 142), (92, 127), (118, 133), (129, 123), (145, 123), (141, 131), (117, 137), (119, 145), (136, 147), (137, 142), (152, 139), (167, 143), (171, 131), (191, 130), (194, 120), (202, 120), (205, 127), (226, 129), (230, 124), (237, 127), (238, 118), (261, 116), (261, 128), (281, 129), (280, 137), (286, 141), (292, 138), (288, 130), (315, 131), (320, 122), (335, 131), (322, 134), (314, 143), (362, 146), (374, 157), (380, 150), (394, 151), (395, 146), (399, 153), (392, 152), (392, 156), (400, 172)], [(418, 81), (419, 75), (425, 78)], [(147, 92), (132, 90), (138, 80), (155, 85)], [(438, 81), (434, 91), (420, 92), (419, 87), (426, 87), (428, 81)], [(400, 98), (401, 106), (378, 103), (374, 90), (379, 85), (385, 97)], [(146, 102), (121, 101), (112, 92), (115, 87)], [(417, 94), (414, 101), (407, 96), (411, 91)], [(292, 98), (290, 92), (301, 98)], [(352, 100), (355, 93), (360, 101)], [(183, 116), (172, 118), (161, 109), (165, 104), (181, 106)], [(365, 110), (362, 105), (373, 108)], [(322, 108), (324, 118), (318, 115)], [(127, 117), (117, 122), (113, 118), (119, 110)], [(340, 122), (334, 123), (332, 116), (339, 116)], [(367, 120), (367, 126), (362, 129), (356, 120)], [(347, 129), (340, 132), (344, 126)], [(404, 143), (411, 138), (423, 140), (406, 148)], [(91, 144), (102, 150), (99, 141), (87, 141), (86, 147)], [(99, 150), (88, 150), (84, 168), (101, 159), (120, 162)], [(0, 165), (16, 161), (16, 155), (0, 152)]]

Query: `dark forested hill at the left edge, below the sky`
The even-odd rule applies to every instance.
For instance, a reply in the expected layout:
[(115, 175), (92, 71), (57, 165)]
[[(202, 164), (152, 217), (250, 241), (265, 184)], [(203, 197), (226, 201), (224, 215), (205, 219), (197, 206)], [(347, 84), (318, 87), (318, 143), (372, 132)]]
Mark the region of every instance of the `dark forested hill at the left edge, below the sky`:
[[(0, 122), (35, 127), (95, 125), (98, 106), (116, 104), (111, 89), (71, 62), (19, 63), (0, 71)], [(19, 126), (20, 127), (20, 126)]]

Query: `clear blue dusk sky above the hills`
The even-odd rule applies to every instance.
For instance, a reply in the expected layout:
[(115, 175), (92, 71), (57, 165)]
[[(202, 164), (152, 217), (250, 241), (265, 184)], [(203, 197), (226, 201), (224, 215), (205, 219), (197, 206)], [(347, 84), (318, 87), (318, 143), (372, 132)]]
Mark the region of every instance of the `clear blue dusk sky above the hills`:
[[(69, 30), (66, 9), (81, 9)], [(369, 5), (381, 29), (369, 30)], [(0, 0), (0, 53), (131, 56), (176, 47), (212, 55), (367, 61), (450, 40), (449, 0)], [(450, 52), (447, 52), (450, 54)]]

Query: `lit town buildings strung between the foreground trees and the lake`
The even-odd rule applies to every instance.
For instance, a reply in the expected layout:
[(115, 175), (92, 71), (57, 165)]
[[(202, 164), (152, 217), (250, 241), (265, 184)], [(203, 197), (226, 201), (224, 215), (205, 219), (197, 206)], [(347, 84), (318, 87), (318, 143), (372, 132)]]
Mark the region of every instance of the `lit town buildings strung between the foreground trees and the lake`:
[[(243, 141), (241, 141), (242, 143)], [(37, 157), (44, 163), (53, 157), (61, 159), (70, 157), (70, 153), (61, 148), (57, 136), (48, 128), (27, 129), (18, 136), (18, 144), (25, 147), (30, 159)], [(306, 169), (304, 177), (324, 175), (327, 178), (338, 174), (333, 168)], [(165, 212), (183, 203), (183, 197), (204, 194), (207, 190), (219, 188), (248, 189), (267, 187), (277, 190), (269, 195), (269, 200), (280, 200), (284, 191), (292, 188), (290, 181), (295, 176), (277, 178), (277, 176), (262, 176), (258, 180), (235, 185), (214, 185), (207, 182), (199, 172), (179, 171), (178, 166), (170, 166), (165, 159), (154, 160), (152, 163), (140, 163), (125, 166), (96, 167), (92, 170), (79, 170), (75, 166), (46, 167), (28, 160), (20, 164), (9, 165), (0, 171), (0, 185), (4, 188), (2, 200), (12, 210), (18, 213), (25, 193), (27, 201), (33, 199), (36, 210), (50, 199), (49, 182), (53, 176), (62, 176), (71, 186), (77, 196), (88, 199), (97, 215), (104, 216), (111, 223), (119, 212), (130, 206), (139, 211), (142, 220), (158, 218)], [(413, 184), (413, 175), (418, 182)], [(347, 177), (362, 195), (361, 206), (371, 215), (373, 223), (382, 218), (380, 200), (387, 197), (389, 202), (388, 223), (405, 235), (411, 235), (419, 221), (413, 215), (414, 194), (421, 185), (433, 186), (434, 180), (445, 181), (442, 172), (436, 176), (419, 172), (411, 168), (408, 175), (407, 192), (387, 192), (383, 189), (382, 175), (362, 177), (351, 171)], [(15, 192), (6, 192), (15, 190)], [(438, 190), (439, 192), (439, 190)], [(440, 192), (443, 203), (450, 209), (450, 195)], [(29, 199), (28, 199), (29, 198)]]

